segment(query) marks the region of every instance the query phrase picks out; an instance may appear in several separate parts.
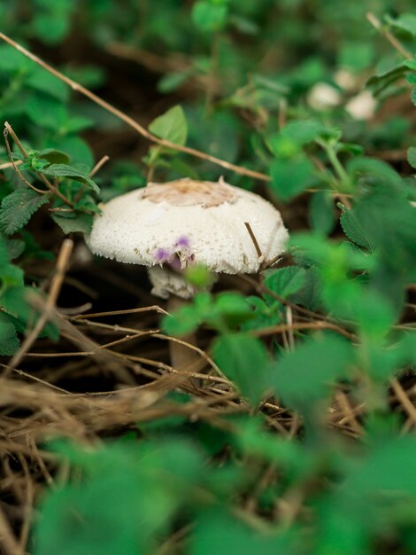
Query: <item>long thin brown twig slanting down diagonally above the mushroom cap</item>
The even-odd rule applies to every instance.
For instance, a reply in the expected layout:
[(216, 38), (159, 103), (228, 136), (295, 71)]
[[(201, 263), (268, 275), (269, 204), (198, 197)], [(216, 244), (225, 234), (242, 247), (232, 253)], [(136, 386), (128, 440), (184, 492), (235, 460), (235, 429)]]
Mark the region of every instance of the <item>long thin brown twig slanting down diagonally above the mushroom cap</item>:
[(227, 168), (242, 176), (249, 176), (249, 177), (252, 177), (253, 179), (259, 179), (261, 181), (270, 181), (270, 177), (267, 176), (266, 174), (262, 174), (250, 168), (243, 168), (240, 166), (236, 166), (235, 164), (231, 164), (226, 160), (221, 160), (220, 158), (211, 156), (210, 154), (206, 154), (205, 152), (198, 151), (195, 148), (191, 148), (189, 146), (176, 145), (171, 141), (167, 141), (166, 139), (161, 139), (156, 137), (155, 135), (150, 133), (150, 131), (148, 131), (142, 125), (140, 125), (140, 123), (138, 123), (133, 118), (128, 116), (127, 113), (121, 112), (121, 110), (119, 110), (115, 106), (112, 106), (109, 102), (106, 102), (105, 100), (103, 100), (103, 98), (96, 96), (96, 94), (91, 92), (89, 89), (86, 89), (85, 87), (83, 87), (80, 83), (73, 81), (73, 79), (66, 77), (66, 75), (64, 74), (61, 74), (57, 69), (55, 69), (54, 67), (44, 62), (42, 59), (35, 56), (35, 54), (33, 54), (32, 52), (27, 51), (26, 48), (21, 46), (19, 43), (16, 43), (15, 41), (13, 41), (9, 36), (4, 35), (4, 33), (0, 33), (0, 38), (4, 40), (4, 42), (10, 44), (13, 48), (18, 50), (22, 54), (24, 54), (27, 58), (32, 59), (36, 64), (38, 64), (39, 66), (42, 66), (43, 69), (46, 69), (46, 71), (49, 71), (50, 74), (55, 75), (55, 77), (57, 77), (60, 81), (65, 82), (67, 85), (71, 87), (71, 89), (76, 90), (77, 92), (80, 92), (82, 95), (84, 95), (84, 97), (89, 98), (90, 100), (95, 102), (98, 106), (103, 107), (104, 110), (106, 110), (107, 112), (110, 112), (113, 115), (115, 115), (117, 118), (119, 118), (119, 120), (127, 123), (127, 125), (135, 129), (140, 135), (142, 135), (142, 137), (146, 138), (151, 143), (156, 143), (157, 145), (165, 146), (166, 148), (172, 148), (173, 150), (176, 150), (178, 152), (184, 152), (185, 154), (195, 156), (196, 158), (207, 160), (209, 162), (212, 162), (213, 164), (217, 164), (217, 166), (221, 166), (221, 168)]

